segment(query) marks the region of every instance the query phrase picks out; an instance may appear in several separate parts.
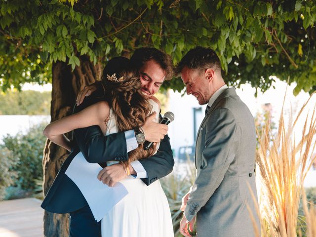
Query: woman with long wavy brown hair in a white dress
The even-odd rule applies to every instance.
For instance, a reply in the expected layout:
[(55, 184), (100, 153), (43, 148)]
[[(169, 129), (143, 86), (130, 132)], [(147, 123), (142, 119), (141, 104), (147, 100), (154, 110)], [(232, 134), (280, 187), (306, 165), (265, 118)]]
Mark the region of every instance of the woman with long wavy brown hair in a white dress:
[[(158, 122), (160, 108), (157, 99), (144, 98), (140, 92), (141, 81), (138, 72), (129, 59), (111, 59), (103, 71), (102, 80), (105, 88), (103, 100), (77, 114), (47, 125), (43, 133), (52, 142), (70, 151), (69, 140), (63, 134), (77, 128), (98, 125), (103, 134), (108, 135), (141, 127), (153, 112), (156, 112)], [(157, 149), (158, 144), (154, 144), (145, 151), (141, 144), (128, 153), (127, 161), (121, 163), (127, 168), (130, 162), (148, 158)], [(114, 163), (118, 161), (108, 161), (107, 165)], [(102, 236), (173, 236), (169, 205), (159, 181), (147, 186), (140, 179), (129, 176), (127, 172), (126, 178), (120, 183), (127, 189), (128, 194), (102, 219)]]

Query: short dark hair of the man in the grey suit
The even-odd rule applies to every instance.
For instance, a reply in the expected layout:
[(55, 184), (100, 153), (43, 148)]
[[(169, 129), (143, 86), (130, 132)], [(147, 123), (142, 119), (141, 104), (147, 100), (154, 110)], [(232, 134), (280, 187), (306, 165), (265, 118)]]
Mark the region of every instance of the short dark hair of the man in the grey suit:
[(187, 52), (186, 55), (178, 63), (175, 73), (179, 75), (184, 67), (189, 69), (205, 70), (213, 68), (215, 71), (221, 72), (221, 61), (215, 51), (211, 48), (197, 46)]

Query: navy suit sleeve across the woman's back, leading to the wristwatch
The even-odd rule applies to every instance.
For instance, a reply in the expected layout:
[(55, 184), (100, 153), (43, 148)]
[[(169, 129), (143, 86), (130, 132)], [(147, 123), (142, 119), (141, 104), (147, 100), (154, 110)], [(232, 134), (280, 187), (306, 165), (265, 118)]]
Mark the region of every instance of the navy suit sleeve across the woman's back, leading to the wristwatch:
[[(74, 113), (96, 103), (86, 98), (82, 105), (75, 106)], [(89, 126), (74, 130), (76, 142), (84, 158), (90, 163), (101, 163), (109, 160), (127, 160), (126, 138), (124, 132), (104, 136), (99, 126)]]

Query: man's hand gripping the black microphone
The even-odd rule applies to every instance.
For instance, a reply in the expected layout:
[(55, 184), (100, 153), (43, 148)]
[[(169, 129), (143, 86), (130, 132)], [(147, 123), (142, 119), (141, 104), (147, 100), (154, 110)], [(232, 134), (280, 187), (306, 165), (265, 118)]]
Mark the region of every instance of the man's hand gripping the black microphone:
[(155, 116), (156, 112), (147, 117), (145, 123), (142, 125), (142, 128), (146, 136), (146, 141), (158, 143), (163, 139), (164, 135), (167, 134), (168, 126), (155, 122)]

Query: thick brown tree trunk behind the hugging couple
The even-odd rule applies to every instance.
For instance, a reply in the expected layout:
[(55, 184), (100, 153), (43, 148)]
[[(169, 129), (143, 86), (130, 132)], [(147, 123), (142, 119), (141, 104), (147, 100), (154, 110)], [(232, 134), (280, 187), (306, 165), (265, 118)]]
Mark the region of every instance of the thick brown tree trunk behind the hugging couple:
[[(94, 66), (85, 56), (80, 58), (80, 67), (72, 72), (71, 66), (56, 62), (52, 66), (51, 122), (71, 115), (79, 91), (87, 84), (101, 79), (100, 64)], [(69, 137), (69, 134), (67, 134)], [(47, 194), (62, 163), (69, 153), (50, 140), (46, 141), (43, 156), (43, 193)], [(44, 236), (69, 236), (69, 214), (44, 213)]]

